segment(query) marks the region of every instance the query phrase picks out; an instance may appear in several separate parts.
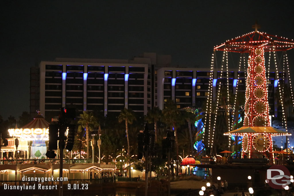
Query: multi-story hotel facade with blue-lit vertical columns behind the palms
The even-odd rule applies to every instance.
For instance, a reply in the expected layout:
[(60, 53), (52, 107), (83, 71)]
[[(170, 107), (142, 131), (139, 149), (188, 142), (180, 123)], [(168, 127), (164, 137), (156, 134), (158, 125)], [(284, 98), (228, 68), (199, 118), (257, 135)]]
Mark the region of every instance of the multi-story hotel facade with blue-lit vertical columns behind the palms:
[[(208, 98), (210, 81), (213, 100), (219, 85), (229, 85), (230, 94), (235, 94), (237, 87), (245, 93), (244, 70), (229, 69), (221, 79), (220, 71), (211, 74), (210, 68), (171, 67), (170, 56), (156, 53), (143, 53), (131, 60), (56, 58), (41, 61), (39, 72), (36, 68), (33, 71), (34, 83), (39, 73), (39, 86), (31, 86), (31, 92), (39, 92), (39, 96), (31, 93), (31, 114), (39, 109), (47, 120), (68, 106), (79, 113), (99, 110), (104, 115), (118, 115), (123, 108), (146, 115), (154, 106), (163, 109), (168, 99), (174, 100), (178, 108), (201, 107)], [(280, 83), (288, 83), (288, 75), (279, 74)], [(270, 115), (277, 116), (282, 111), (275, 75), (274, 71), (269, 74), (268, 101)]]

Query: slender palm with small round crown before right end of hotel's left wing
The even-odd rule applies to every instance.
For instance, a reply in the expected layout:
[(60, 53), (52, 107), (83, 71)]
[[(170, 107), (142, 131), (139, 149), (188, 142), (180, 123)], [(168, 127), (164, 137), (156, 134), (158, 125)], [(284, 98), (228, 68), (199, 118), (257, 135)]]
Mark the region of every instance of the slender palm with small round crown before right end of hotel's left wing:
[[(121, 113), (118, 116), (118, 122), (121, 123), (123, 121), (126, 122), (126, 135), (127, 135), (127, 141), (128, 141), (128, 159), (130, 160), (130, 141), (129, 141), (129, 129), (128, 129), (128, 124), (133, 124), (133, 121), (136, 120), (135, 114), (133, 110), (123, 108), (121, 110)], [(129, 177), (131, 177), (131, 170), (129, 170)]]

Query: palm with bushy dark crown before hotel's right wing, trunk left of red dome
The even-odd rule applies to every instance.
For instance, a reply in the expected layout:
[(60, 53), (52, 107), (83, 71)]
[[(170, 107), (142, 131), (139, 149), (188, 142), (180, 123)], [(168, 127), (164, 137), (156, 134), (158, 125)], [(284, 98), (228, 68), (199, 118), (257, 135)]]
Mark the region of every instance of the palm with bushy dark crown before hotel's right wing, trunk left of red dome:
[(173, 100), (167, 100), (162, 110), (164, 121), (170, 126), (171, 130), (175, 131), (175, 143), (176, 143), (176, 153), (177, 153), (177, 169), (176, 175), (178, 175), (178, 155), (179, 155), (179, 143), (178, 143), (178, 127), (183, 123), (181, 118), (180, 110), (177, 108)]

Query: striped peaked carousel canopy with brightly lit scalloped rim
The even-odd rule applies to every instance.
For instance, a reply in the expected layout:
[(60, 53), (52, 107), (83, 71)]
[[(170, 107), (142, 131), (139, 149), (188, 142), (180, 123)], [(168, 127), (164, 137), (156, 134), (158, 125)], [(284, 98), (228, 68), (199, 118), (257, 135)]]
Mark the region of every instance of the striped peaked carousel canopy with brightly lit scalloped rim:
[(24, 125), (20, 129), (9, 129), (9, 135), (25, 140), (48, 140), (49, 123), (41, 116), (37, 115), (34, 120)]

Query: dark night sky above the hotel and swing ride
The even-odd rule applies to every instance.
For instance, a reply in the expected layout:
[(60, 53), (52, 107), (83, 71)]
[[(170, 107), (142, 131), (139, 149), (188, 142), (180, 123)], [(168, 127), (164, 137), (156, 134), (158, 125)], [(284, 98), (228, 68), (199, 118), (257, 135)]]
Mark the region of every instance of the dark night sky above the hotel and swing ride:
[[(170, 54), (173, 65), (207, 67), (213, 46), (252, 31), (256, 19), (260, 31), (294, 38), (291, 1), (126, 2), (1, 2), (0, 115), (29, 111), (30, 67), (41, 60), (145, 51)], [(294, 52), (288, 56), (291, 64)]]

